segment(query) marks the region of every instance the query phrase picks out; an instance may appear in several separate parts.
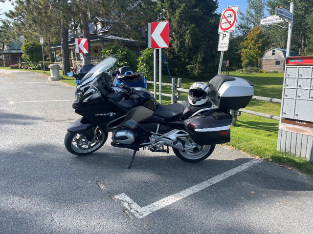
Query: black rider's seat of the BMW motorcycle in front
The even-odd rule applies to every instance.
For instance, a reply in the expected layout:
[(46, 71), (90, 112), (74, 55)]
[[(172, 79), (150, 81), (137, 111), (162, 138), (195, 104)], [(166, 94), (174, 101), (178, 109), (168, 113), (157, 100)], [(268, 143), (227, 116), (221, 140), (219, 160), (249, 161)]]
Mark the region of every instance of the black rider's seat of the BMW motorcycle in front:
[(181, 116), (183, 111), (184, 107), (180, 103), (169, 105), (158, 104), (155, 116), (164, 118), (165, 121), (174, 121)]

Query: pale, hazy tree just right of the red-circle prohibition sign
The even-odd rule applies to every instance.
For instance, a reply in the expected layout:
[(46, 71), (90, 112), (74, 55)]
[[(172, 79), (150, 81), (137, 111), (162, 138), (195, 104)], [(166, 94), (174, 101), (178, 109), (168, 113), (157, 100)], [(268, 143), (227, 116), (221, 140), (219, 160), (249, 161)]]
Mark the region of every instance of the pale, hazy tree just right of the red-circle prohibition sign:
[(247, 0), (246, 13), (240, 12), (239, 32), (246, 36), (251, 28), (260, 24), (264, 15), (265, 0)]

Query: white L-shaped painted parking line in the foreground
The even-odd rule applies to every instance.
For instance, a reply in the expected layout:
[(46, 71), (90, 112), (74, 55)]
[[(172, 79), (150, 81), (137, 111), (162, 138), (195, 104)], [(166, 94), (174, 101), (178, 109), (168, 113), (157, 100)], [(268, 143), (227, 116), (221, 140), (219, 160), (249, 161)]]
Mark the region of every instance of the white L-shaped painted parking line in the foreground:
[(147, 205), (145, 207), (140, 207), (137, 203), (135, 203), (132, 198), (130, 198), (128, 195), (126, 194), (119, 194), (114, 196), (116, 199), (118, 199), (120, 202), (123, 203), (123, 205), (130, 210), (130, 212), (132, 212), (137, 218), (143, 218), (147, 215), (150, 215), (151, 213), (166, 207), (176, 201), (179, 201), (189, 195), (192, 195), (194, 193), (197, 193), (213, 184), (216, 184), (220, 181), (222, 181), (225, 178), (228, 178), (229, 176), (233, 176), (239, 172), (242, 172), (246, 169), (248, 169), (249, 167), (252, 167), (255, 164), (260, 163), (261, 160), (259, 159), (252, 159), (249, 162), (246, 162), (236, 168), (233, 168), (227, 172), (224, 172), (218, 176), (214, 176), (208, 180), (205, 180), (203, 182), (201, 182), (200, 184), (196, 184), (192, 187), (190, 187), (189, 189), (185, 189), (179, 193), (170, 195), (168, 197), (165, 197), (159, 201), (156, 201), (150, 205)]

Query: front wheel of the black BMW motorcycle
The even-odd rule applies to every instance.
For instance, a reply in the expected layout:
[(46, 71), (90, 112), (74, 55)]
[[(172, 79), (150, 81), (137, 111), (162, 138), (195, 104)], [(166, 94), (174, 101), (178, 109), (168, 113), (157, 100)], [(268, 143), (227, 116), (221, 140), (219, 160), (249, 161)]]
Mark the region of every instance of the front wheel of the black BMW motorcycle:
[(108, 133), (100, 130), (92, 141), (88, 141), (83, 133), (67, 132), (64, 145), (67, 151), (73, 155), (89, 155), (100, 149), (106, 142)]

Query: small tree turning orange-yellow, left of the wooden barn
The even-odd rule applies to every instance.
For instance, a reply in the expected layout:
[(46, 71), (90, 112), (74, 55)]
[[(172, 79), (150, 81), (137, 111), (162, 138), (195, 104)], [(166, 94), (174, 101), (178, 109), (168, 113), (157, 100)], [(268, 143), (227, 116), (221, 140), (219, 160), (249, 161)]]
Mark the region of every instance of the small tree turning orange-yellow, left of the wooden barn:
[(262, 57), (265, 51), (266, 41), (264, 40), (265, 33), (259, 26), (255, 26), (247, 35), (242, 49), (243, 67), (258, 66), (258, 59)]

